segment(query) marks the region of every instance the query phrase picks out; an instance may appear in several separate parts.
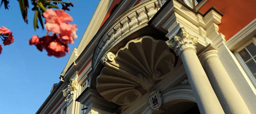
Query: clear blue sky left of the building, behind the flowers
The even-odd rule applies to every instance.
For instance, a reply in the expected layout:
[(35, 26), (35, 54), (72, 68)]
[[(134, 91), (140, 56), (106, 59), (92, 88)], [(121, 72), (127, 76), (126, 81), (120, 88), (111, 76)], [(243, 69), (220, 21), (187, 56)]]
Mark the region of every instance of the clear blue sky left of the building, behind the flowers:
[[(73, 17), (72, 23), (77, 25), (78, 38), (69, 45), (71, 52), (78, 46), (99, 3), (99, 0), (72, 1), (77, 3), (67, 12)], [(59, 75), (71, 54), (62, 58), (49, 57), (45, 50), (41, 52), (28, 44), (32, 35), (42, 37), (47, 33), (42, 29), (34, 31), (34, 13), (29, 5), (28, 25), (22, 19), (17, 0), (10, 0), (9, 10), (4, 6), (0, 8), (0, 27), (11, 29), (15, 38), (11, 45), (2, 46), (0, 55), (0, 114), (34, 114), (50, 94), (53, 84), (60, 81)]]

